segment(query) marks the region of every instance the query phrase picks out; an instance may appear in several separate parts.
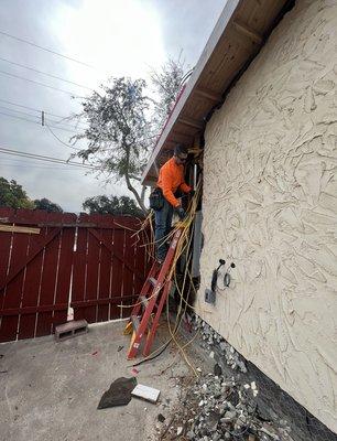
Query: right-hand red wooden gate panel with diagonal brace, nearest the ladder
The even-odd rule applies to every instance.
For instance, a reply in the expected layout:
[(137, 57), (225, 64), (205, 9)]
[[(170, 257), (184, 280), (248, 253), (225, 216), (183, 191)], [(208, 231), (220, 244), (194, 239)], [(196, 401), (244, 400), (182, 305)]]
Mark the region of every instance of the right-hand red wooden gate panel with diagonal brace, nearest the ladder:
[(138, 299), (149, 271), (143, 244), (134, 237), (139, 220), (80, 215), (78, 225), (72, 289), (75, 320), (94, 323), (130, 315), (129, 308), (119, 305)]

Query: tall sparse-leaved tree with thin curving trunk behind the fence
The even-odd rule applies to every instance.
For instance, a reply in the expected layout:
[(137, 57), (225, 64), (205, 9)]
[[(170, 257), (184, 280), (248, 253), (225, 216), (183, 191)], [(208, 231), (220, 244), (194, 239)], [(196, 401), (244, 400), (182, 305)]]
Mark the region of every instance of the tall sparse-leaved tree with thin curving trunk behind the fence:
[(100, 171), (116, 180), (124, 179), (140, 207), (145, 212), (135, 182), (146, 163), (151, 99), (142, 79), (112, 78), (102, 87), (104, 95), (94, 93), (83, 103), (89, 127), (76, 140), (86, 138), (88, 148), (74, 155), (90, 160)]

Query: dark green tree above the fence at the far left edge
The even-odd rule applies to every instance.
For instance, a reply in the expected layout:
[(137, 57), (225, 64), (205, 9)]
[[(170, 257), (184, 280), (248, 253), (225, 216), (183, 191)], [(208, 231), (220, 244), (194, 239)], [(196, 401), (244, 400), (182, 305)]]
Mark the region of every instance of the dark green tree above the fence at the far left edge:
[(0, 206), (11, 208), (34, 208), (34, 203), (31, 201), (22, 185), (17, 181), (8, 181), (0, 178)]

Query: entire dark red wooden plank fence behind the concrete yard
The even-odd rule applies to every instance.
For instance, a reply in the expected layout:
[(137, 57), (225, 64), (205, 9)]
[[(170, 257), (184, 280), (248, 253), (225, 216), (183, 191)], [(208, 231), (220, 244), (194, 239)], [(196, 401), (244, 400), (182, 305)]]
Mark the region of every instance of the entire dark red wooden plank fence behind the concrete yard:
[(0, 342), (48, 335), (67, 320), (127, 316), (149, 270), (130, 217), (0, 208)]

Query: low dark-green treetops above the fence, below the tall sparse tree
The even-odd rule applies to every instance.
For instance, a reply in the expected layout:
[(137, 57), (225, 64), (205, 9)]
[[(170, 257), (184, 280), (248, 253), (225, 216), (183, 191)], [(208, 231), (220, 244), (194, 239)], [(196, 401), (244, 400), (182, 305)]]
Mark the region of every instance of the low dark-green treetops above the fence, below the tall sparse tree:
[(141, 217), (143, 211), (140, 209), (135, 202), (128, 196), (94, 196), (88, 197), (83, 203), (84, 209), (89, 214), (112, 214), (112, 215), (131, 215)]

